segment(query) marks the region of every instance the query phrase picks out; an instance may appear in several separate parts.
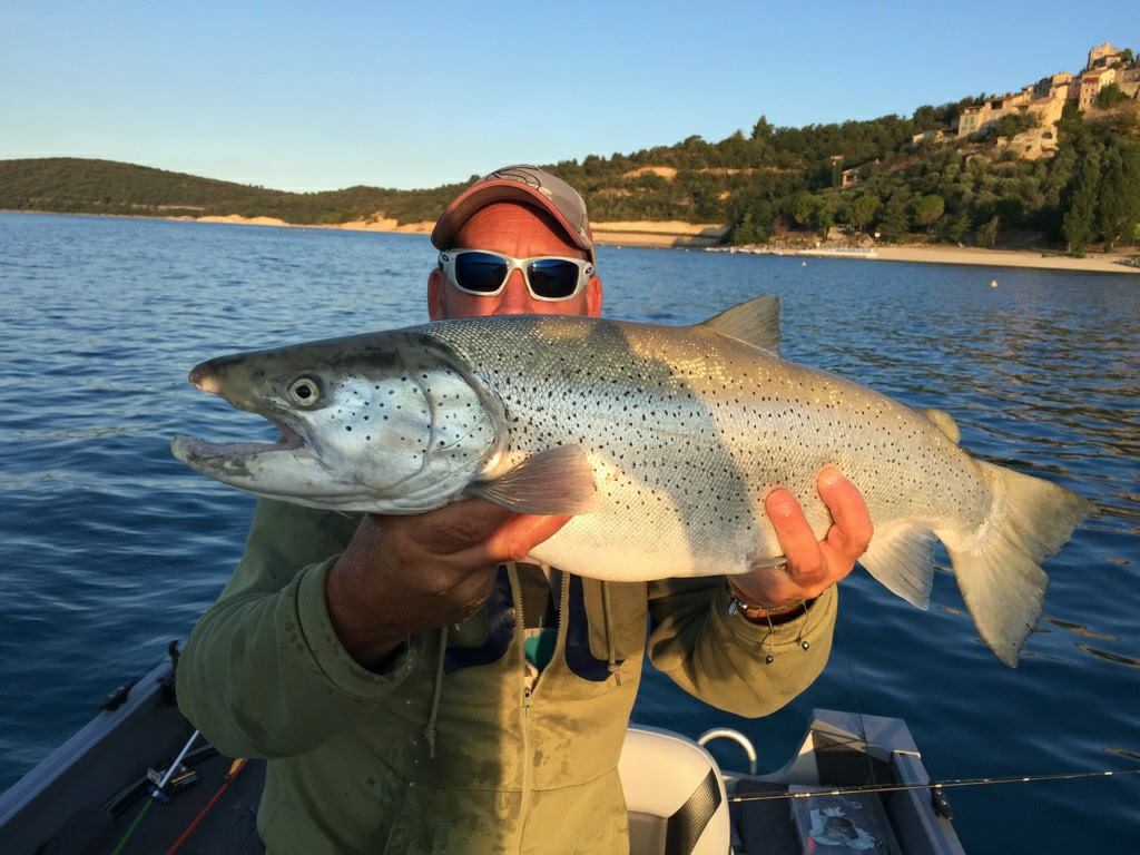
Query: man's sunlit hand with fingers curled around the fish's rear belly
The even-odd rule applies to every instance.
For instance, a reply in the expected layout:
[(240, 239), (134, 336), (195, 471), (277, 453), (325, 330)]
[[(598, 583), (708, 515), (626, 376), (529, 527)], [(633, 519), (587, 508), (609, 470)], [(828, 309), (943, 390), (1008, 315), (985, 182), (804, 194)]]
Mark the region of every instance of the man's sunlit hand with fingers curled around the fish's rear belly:
[(816, 540), (796, 497), (783, 488), (769, 492), (764, 508), (775, 527), (787, 563), (733, 576), (741, 598), (764, 609), (814, 600), (847, 576), (871, 543), (871, 515), (855, 486), (828, 466), (815, 480), (820, 498), (834, 520), (823, 540)]

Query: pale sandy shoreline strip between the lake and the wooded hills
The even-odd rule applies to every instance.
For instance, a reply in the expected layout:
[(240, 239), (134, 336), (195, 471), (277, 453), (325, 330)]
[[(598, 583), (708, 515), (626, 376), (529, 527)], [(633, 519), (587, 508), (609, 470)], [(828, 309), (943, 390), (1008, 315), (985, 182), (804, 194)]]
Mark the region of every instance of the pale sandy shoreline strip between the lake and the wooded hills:
[[(380, 231), (385, 234), (430, 235), (433, 221), (399, 223), (397, 220), (356, 220), (339, 223), (285, 222), (274, 217), (145, 217), (135, 214), (67, 214), (51, 211), (6, 211), (6, 213), (65, 213), (73, 217), (115, 217), (121, 219), (169, 220), (176, 222), (209, 222), (237, 226), (271, 226), (277, 228), (339, 229), (343, 231)], [(717, 246), (727, 230), (716, 223), (689, 223), (681, 221), (629, 221), (591, 223), (594, 237), (604, 246), (638, 246), (651, 249), (710, 249)], [(722, 249), (722, 247), (718, 247)], [(763, 247), (738, 251), (763, 254)], [(723, 247), (722, 251), (732, 251)], [(775, 253), (772, 253), (775, 254)], [(1060, 253), (1042, 253), (1032, 250), (984, 250), (969, 246), (923, 245), (923, 246), (874, 246), (871, 252), (831, 252), (823, 250), (783, 250), (784, 255), (858, 258), (868, 261), (910, 261), (933, 264), (968, 264), (983, 267), (1017, 267), (1040, 270), (1072, 270), (1082, 272), (1140, 274), (1140, 267), (1118, 263), (1119, 259), (1140, 259), (1140, 252), (1123, 251), (1113, 254), (1098, 253), (1083, 259)]]

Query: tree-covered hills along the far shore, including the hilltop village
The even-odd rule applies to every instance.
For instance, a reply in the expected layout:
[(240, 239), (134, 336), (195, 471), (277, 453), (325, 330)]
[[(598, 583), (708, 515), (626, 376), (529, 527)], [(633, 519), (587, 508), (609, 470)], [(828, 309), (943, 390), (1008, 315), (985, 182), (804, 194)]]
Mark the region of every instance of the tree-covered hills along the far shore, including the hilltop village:
[[(1115, 54), (1090, 52), (1097, 67), (1083, 76), (1052, 75), (1019, 93), (804, 128), (760, 116), (750, 133), (717, 142), (694, 136), (547, 169), (581, 190), (595, 222), (724, 223), (731, 243), (839, 228), (847, 239), (1110, 247), (1140, 220), (1140, 101), (1129, 82), (1140, 63), (1102, 48)], [(1117, 72), (1125, 89), (1094, 80)], [(1089, 80), (1096, 98), (1085, 97)], [(287, 193), (109, 161), (0, 161), (8, 210), (408, 223), (434, 220), (462, 186)]]

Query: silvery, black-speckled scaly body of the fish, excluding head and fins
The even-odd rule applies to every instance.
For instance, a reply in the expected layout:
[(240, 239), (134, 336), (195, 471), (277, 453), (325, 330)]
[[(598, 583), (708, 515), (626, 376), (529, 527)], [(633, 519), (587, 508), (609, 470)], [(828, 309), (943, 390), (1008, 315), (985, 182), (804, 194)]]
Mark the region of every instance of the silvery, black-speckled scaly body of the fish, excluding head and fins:
[(504, 401), (503, 469), (552, 446), (586, 450), (597, 507), (536, 551), (560, 567), (578, 556), (602, 578), (741, 572), (781, 554), (763, 507), (776, 486), (824, 536), (831, 520), (814, 480), (826, 464), (868, 486), (879, 523), (956, 516), (975, 528), (987, 510), (969, 455), (921, 416), (711, 331), (537, 317), (421, 331)]

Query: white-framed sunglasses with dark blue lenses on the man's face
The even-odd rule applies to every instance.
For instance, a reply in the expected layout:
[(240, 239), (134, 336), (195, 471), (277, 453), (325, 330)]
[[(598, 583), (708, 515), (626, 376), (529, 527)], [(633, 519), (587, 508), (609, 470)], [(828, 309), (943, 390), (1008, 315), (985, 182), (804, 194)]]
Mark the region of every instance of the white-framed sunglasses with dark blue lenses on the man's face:
[(578, 294), (594, 275), (585, 259), (536, 255), (515, 259), (486, 250), (449, 250), (439, 254), (439, 269), (465, 294), (495, 296), (515, 270), (522, 270), (527, 291), (535, 300), (559, 302)]

